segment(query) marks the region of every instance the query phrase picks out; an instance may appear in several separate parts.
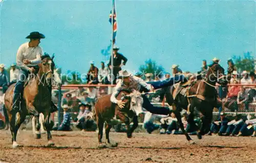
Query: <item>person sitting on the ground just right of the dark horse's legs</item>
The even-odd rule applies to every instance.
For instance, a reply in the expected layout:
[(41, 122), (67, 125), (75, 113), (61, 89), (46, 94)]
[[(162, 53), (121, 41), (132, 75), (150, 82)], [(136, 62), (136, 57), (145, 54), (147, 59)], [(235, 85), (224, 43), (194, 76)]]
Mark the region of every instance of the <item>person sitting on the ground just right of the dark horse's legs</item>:
[(220, 113), (218, 121), (212, 122), (210, 127), (210, 133), (218, 133), (220, 136), (227, 130), (228, 119), (224, 112)]

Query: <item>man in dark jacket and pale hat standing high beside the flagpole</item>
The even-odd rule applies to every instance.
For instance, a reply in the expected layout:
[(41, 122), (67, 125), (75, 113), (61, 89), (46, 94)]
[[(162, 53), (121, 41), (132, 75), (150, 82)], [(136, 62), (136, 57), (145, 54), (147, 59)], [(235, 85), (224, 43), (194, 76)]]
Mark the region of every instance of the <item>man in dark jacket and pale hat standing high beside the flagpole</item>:
[(112, 58), (110, 57), (110, 62), (108, 66), (110, 69), (113, 69), (113, 73), (111, 75), (114, 75), (113, 84), (116, 84), (116, 77), (118, 75), (118, 72), (122, 70), (122, 66), (126, 64), (127, 59), (121, 55), (121, 53), (118, 52), (119, 47), (114, 45), (113, 47), (113, 67), (112, 67)]

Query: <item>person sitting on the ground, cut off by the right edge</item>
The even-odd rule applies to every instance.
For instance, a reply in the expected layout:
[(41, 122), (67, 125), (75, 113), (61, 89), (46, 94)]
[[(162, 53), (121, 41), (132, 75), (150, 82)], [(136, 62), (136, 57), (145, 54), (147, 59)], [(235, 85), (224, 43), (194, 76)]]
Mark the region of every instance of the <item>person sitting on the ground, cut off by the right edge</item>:
[(255, 126), (256, 126), (256, 118), (251, 120), (246, 120), (245, 124), (240, 129), (237, 137), (253, 135)]

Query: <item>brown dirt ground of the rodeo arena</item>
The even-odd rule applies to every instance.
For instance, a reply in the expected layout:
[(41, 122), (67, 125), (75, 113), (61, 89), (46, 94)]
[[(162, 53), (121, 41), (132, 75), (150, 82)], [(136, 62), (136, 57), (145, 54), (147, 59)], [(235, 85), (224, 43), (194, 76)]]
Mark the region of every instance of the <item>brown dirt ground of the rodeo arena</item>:
[[(20, 131), (19, 147), (11, 148), (10, 131), (0, 131), (0, 162), (256, 162), (256, 138), (205, 136), (190, 145), (184, 135), (111, 132), (116, 148), (97, 148), (97, 132), (53, 131), (35, 140), (32, 131)], [(105, 139), (103, 139), (105, 141)]]

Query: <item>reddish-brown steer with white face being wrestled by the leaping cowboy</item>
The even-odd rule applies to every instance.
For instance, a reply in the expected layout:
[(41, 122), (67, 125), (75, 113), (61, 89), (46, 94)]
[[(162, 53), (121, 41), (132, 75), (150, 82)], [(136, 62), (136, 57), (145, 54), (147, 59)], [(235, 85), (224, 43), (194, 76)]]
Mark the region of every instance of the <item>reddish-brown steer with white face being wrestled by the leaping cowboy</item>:
[[(113, 122), (113, 117), (116, 115), (117, 119), (120, 119), (120, 122), (123, 122), (127, 126), (127, 137), (132, 138), (133, 131), (138, 126), (138, 115), (142, 113), (142, 103), (143, 99), (139, 91), (134, 91), (131, 94), (126, 91), (121, 91), (116, 97), (118, 100), (122, 99), (125, 102), (124, 108), (118, 107), (117, 104), (110, 101), (111, 94), (105, 95), (98, 98), (95, 103), (95, 114), (96, 121), (98, 125), (98, 141), (99, 147), (104, 147), (102, 145), (101, 139), (103, 135), (103, 125), (105, 123), (105, 134), (106, 134), (106, 144), (110, 144), (109, 133), (112, 127), (112, 124), (117, 123)], [(130, 127), (131, 121), (133, 126)], [(112, 144), (112, 147), (116, 147), (117, 144)]]

